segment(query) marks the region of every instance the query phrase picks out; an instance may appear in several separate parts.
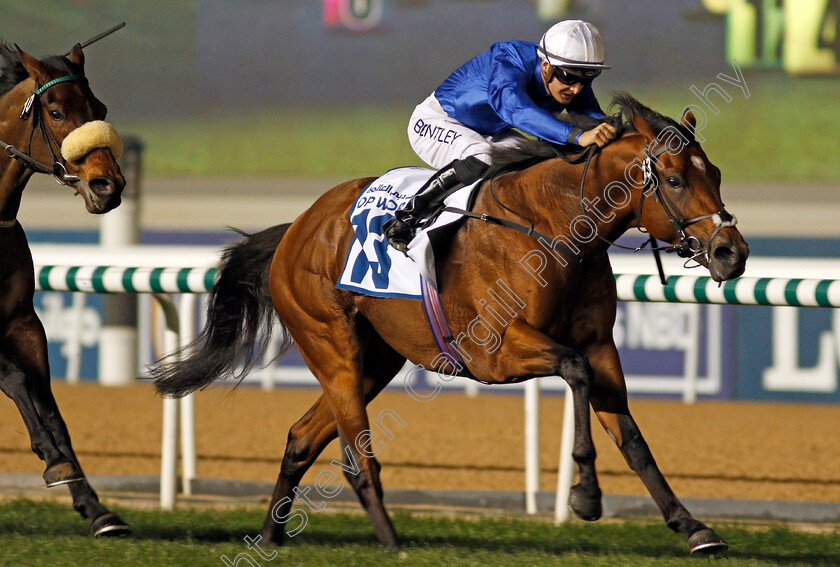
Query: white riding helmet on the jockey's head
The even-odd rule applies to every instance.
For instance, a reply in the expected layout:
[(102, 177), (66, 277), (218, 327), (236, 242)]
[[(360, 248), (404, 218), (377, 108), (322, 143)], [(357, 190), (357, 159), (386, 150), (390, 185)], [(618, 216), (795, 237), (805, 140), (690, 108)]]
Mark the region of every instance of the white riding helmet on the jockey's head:
[(604, 42), (598, 28), (581, 20), (554, 24), (545, 32), (537, 52), (555, 67), (609, 69), (604, 65)]

